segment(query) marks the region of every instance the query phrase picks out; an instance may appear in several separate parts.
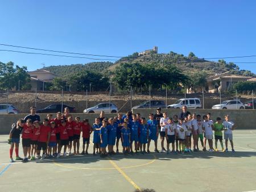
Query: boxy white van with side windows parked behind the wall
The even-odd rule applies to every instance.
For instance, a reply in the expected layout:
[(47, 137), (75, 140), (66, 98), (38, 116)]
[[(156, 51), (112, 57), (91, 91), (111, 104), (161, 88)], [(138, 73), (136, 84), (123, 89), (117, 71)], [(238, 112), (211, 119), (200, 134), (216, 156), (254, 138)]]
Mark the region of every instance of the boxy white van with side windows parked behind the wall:
[(167, 108), (182, 108), (184, 105), (187, 108), (201, 108), (201, 101), (199, 98), (179, 99), (174, 104), (168, 105)]

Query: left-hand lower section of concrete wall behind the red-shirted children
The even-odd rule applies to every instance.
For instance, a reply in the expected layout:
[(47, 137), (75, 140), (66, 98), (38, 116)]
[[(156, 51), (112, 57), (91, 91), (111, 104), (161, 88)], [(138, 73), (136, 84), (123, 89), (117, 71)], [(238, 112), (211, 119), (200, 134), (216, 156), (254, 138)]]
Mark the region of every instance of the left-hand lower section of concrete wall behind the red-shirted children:
[[(16, 123), (18, 119), (23, 119), (27, 114), (0, 114), (0, 135), (9, 134), (11, 130), (11, 125)], [(99, 114), (73, 114), (73, 117), (80, 116), (82, 119), (89, 119), (89, 123), (93, 124), (94, 119), (99, 116)], [(117, 114), (105, 114), (106, 118), (117, 116)], [(40, 119), (46, 118), (46, 114), (41, 114)], [(7, 139), (7, 138), (6, 138)]]

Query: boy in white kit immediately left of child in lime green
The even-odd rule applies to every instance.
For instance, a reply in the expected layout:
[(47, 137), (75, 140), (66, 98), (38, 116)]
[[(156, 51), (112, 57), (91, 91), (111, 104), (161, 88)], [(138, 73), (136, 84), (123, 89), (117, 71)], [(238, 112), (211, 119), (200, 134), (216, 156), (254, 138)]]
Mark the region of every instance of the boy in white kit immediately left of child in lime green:
[[(212, 135), (213, 135), (213, 123), (211, 120), (208, 120), (208, 117), (206, 115), (203, 116), (204, 119), (204, 123), (203, 123), (203, 130), (205, 132), (205, 140), (208, 140), (208, 144), (209, 144), (209, 152), (213, 152), (213, 142), (212, 142)], [(205, 141), (205, 145), (206, 145), (206, 141)], [(204, 145), (204, 149), (206, 151), (206, 146)]]

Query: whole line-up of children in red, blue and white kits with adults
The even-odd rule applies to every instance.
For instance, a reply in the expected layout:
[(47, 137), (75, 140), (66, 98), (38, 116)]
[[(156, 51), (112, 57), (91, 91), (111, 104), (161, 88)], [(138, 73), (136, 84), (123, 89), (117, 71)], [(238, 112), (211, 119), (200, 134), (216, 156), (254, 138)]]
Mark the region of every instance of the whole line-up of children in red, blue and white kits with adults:
[[(64, 148), (64, 157), (88, 154), (92, 132), (93, 155), (100, 153), (101, 157), (119, 153), (120, 141), (124, 155), (129, 153), (138, 154), (138, 151), (141, 151), (142, 154), (150, 153), (151, 140), (154, 141), (155, 152), (159, 152), (159, 132), (161, 138), (164, 137), (167, 141), (167, 150), (164, 148), (164, 140), (161, 141), (162, 150), (160, 152), (162, 153), (192, 152), (192, 137), (194, 152), (199, 151), (199, 139), (203, 151), (206, 151), (207, 140), (209, 152), (218, 151), (217, 141), (219, 140), (222, 151), (228, 152), (228, 140), (230, 140), (234, 152), (232, 130), (236, 125), (230, 121), (229, 115), (225, 115), (223, 122), (221, 118), (217, 118), (215, 123), (210, 119), (210, 114), (204, 115), (203, 119), (201, 119), (201, 115), (196, 114), (188, 114), (184, 119), (178, 119), (177, 115), (168, 118), (167, 112), (164, 112), (160, 120), (154, 119), (154, 114), (149, 114), (148, 118), (148, 120), (141, 118), (140, 114), (122, 115), (118, 113), (118, 116), (106, 119), (101, 114), (100, 118), (95, 119), (92, 126), (90, 126), (88, 119), (81, 121), (77, 116), (73, 120), (72, 115), (63, 116), (61, 112), (57, 112), (55, 119), (52, 118), (51, 114), (48, 114), (42, 123), (37, 120), (32, 122), (31, 119), (27, 119), (25, 122), (23, 119), (19, 119), (16, 124), (13, 124), (10, 132), (10, 162), (14, 161), (14, 146), (16, 160), (22, 160), (23, 162), (27, 162), (28, 159), (33, 161), (40, 158), (59, 158), (62, 148)], [(215, 149), (213, 149), (213, 131)], [(224, 131), (225, 150), (222, 143), (222, 131)], [(82, 153), (79, 153), (81, 132)], [(20, 133), (22, 133), (24, 158), (20, 158), (18, 154)], [(170, 144), (172, 145), (172, 151), (170, 150)], [(114, 145), (116, 151), (114, 151)], [(42, 157), (40, 151), (43, 151)]]

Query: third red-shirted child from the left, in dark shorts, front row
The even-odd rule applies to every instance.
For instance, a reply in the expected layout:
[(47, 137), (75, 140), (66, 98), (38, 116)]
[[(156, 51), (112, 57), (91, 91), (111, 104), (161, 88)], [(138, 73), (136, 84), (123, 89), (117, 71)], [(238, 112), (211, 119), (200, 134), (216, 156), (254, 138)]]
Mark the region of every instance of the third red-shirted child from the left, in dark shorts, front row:
[(46, 150), (51, 136), (51, 128), (48, 126), (48, 119), (43, 119), (43, 125), (40, 126), (40, 135), (38, 138), (38, 146), (36, 147), (37, 157), (40, 158), (40, 151), (43, 150), (42, 159), (46, 158)]

